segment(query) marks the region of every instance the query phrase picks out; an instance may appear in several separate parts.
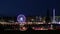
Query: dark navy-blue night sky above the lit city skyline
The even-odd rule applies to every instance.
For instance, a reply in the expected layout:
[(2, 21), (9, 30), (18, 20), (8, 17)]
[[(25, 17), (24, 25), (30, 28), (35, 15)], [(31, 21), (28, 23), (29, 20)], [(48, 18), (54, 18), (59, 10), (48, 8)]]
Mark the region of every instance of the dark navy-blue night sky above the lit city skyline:
[(60, 15), (60, 0), (0, 0), (1, 16), (41, 15), (45, 16), (47, 8), (50, 13), (56, 9), (56, 15)]

